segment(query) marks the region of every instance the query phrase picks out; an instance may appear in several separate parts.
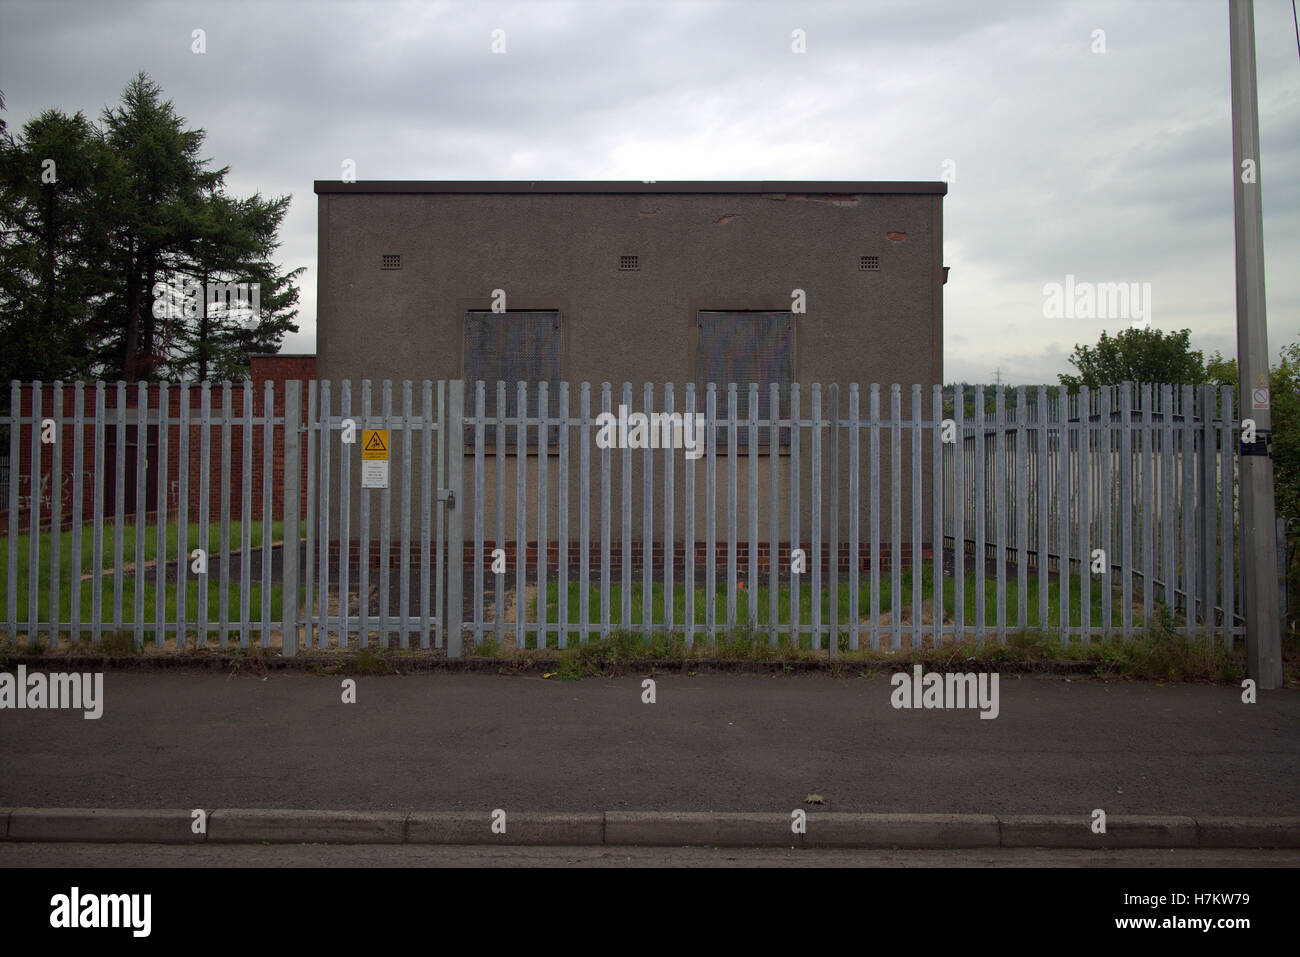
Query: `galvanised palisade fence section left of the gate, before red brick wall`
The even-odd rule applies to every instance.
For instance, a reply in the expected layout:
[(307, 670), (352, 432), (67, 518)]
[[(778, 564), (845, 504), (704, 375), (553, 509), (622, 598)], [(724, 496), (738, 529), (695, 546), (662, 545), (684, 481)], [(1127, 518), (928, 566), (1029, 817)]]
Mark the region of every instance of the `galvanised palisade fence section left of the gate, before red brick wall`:
[[(300, 391), (290, 384), (289, 421), (300, 419)], [(51, 404), (43, 407), (47, 394)], [(99, 645), (108, 632), (162, 646), (169, 636), (183, 645), (213, 632), (222, 646), (237, 633), (248, 648), (256, 632), (263, 646), (277, 633), (286, 653), (296, 650), (298, 632), (285, 622), (292, 625), (298, 612), (289, 598), (278, 607), (277, 596), (299, 594), (299, 562), (282, 560), (273, 572), (274, 547), (294, 549), (272, 540), (270, 454), (278, 447), (286, 465), (274, 497), (283, 541), (292, 542), (302, 525), (300, 508), (291, 507), (300, 492), (300, 441), (299, 429), (274, 415), (270, 384), (257, 410), (251, 382), (14, 382), (9, 410), (0, 419), (9, 425), (10, 463), (0, 560), (10, 636), (44, 635), (51, 645), (84, 636)], [(233, 443), (242, 452), (238, 477)], [(256, 511), (266, 519), (259, 541), (252, 521), (231, 523), (231, 502), (238, 516)]]

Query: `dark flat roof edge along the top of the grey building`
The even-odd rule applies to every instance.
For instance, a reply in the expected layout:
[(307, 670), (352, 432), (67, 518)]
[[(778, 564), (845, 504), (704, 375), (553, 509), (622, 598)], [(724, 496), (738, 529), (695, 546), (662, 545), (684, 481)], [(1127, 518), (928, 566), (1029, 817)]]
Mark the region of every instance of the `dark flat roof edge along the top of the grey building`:
[(363, 179), (344, 183), (339, 179), (317, 179), (313, 183), (317, 194), (339, 192), (585, 192), (585, 194), (649, 194), (649, 192), (793, 192), (809, 195), (854, 195), (867, 192), (911, 192), (946, 195), (945, 182), (880, 182), (880, 181), (670, 181), (636, 182), (616, 179)]

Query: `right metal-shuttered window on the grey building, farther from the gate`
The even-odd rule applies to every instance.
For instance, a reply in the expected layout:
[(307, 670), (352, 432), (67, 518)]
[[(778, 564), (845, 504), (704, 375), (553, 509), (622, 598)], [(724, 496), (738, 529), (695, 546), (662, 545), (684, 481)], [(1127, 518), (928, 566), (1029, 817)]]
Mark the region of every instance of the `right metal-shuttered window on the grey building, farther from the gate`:
[[(698, 407), (705, 408), (705, 389), (718, 385), (718, 416), (727, 415), (727, 386), (736, 384), (736, 413), (749, 416), (749, 385), (758, 384), (758, 415), (766, 419), (771, 406), (771, 384), (780, 386), (783, 399), (794, 382), (794, 315), (760, 311), (701, 311), (699, 346), (696, 352), (696, 387)], [(722, 430), (725, 434), (725, 430)], [(720, 436), (722, 438), (722, 436)], [(789, 429), (781, 429), (781, 446), (789, 445)], [(741, 447), (748, 445), (749, 430), (737, 433)], [(767, 429), (759, 432), (759, 445), (768, 445)]]

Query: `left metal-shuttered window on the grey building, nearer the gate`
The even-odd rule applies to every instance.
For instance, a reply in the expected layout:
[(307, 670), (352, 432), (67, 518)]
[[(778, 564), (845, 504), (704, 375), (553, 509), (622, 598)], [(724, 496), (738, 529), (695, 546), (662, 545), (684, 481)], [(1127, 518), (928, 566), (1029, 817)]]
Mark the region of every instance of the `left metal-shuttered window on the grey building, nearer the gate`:
[[(560, 389), (560, 313), (559, 309), (471, 309), (465, 313), (465, 404), (472, 413), (474, 384), (486, 382), (488, 416), (514, 417), (519, 413), (519, 382), (528, 382), (529, 402), (537, 402), (537, 384), (550, 384), (550, 410), (559, 408)], [(506, 408), (497, 408), (497, 382), (506, 382)], [(537, 408), (526, 410), (533, 415)], [(514, 436), (514, 430), (510, 432)], [(473, 426), (465, 426), (465, 443), (473, 446)], [(488, 447), (495, 447), (497, 429), (484, 429)], [(551, 429), (551, 449), (559, 441), (558, 428)], [(537, 446), (537, 429), (528, 429), (528, 446)]]

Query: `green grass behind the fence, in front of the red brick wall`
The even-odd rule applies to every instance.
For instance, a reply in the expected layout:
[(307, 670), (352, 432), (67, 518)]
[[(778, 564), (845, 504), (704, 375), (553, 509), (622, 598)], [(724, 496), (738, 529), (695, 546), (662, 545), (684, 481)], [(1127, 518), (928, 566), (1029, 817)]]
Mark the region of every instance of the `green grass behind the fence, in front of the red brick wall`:
[[(272, 541), (278, 541), (283, 527), (282, 523), (272, 523)], [(150, 562), (156, 558), (157, 554), (157, 533), (152, 527), (146, 527), (142, 529), (144, 534), (144, 560)], [(230, 542), (231, 550), (239, 547), (238, 528), (231, 529), (234, 541)], [(68, 584), (72, 581), (72, 538), (73, 533), (70, 531), (64, 532), (60, 536), (60, 555), (58, 555), (58, 584), (60, 584), (60, 606), (58, 606), (58, 620), (68, 622), (72, 616), (72, 590)], [(251, 523), (251, 545), (261, 545), (261, 523)], [(18, 536), (18, 562), (17, 562), (17, 579), (18, 579), (18, 592), (16, 596), (17, 603), (17, 618), (20, 620), (27, 620), (27, 599), (29, 599), (29, 575), (30, 575), (30, 549), (31, 538), (30, 536)], [(40, 536), (40, 564), (39, 576), (36, 579), (36, 619), (48, 620), (49, 619), (49, 547), (51, 536), (44, 533)], [(200, 547), (199, 538), (199, 525), (198, 523), (190, 523), (188, 532), (186, 537), (186, 547), (192, 551)], [(217, 564), (216, 555), (221, 547), (220, 529), (214, 528), (211, 523), (208, 525), (208, 588), (207, 588), (207, 620), (213, 623), (220, 615), (220, 581), (217, 577)], [(82, 529), (82, 576), (94, 571), (94, 541), (91, 537), (91, 529), (88, 527)], [(176, 562), (178, 560), (177, 551), (177, 527), (169, 523), (166, 544), (164, 546), (164, 559), (168, 562), (169, 572), (174, 573)], [(124, 523), (122, 525), (122, 563), (134, 563), (135, 560), (135, 524), (133, 521)], [(105, 523), (104, 525), (104, 555), (100, 562), (100, 568), (104, 572), (104, 577), (100, 580), (100, 601), (103, 602), (100, 611), (101, 622), (113, 620), (113, 575), (109, 570), (113, 567), (113, 523)], [(8, 537), (0, 537), (0, 590), (8, 586), (9, 575), (9, 540)], [(144, 568), (142, 571), (140, 594), (144, 599), (144, 620), (152, 622), (157, 609), (157, 567)], [(92, 616), (92, 599), (95, 597), (95, 583), (94, 580), (83, 580), (79, 583), (81, 588), (81, 607), (78, 618), (82, 623), (87, 625), (94, 620)], [(134, 570), (126, 570), (122, 573), (122, 619), (130, 622), (135, 615), (135, 588), (136, 588), (136, 575)], [(168, 622), (177, 620), (177, 588), (174, 584), (168, 584), (164, 588), (164, 615)], [(270, 616), (273, 619), (280, 618), (281, 609), (281, 586), (278, 584), (270, 588)], [(199, 598), (200, 588), (194, 572), (190, 570), (190, 560), (186, 560), (186, 589), (185, 589), (185, 620), (191, 623), (198, 623), (199, 620)], [(302, 589), (300, 589), (302, 593)], [(233, 576), (229, 586), (228, 598), (228, 619), (239, 618), (239, 599), (240, 588), (238, 576)], [(259, 619), (261, 616), (261, 583), (250, 581), (248, 588), (248, 610), (250, 616)], [(0, 610), (0, 614), (6, 615), (8, 609)], [(216, 636), (216, 629), (208, 631), (209, 636)]]

